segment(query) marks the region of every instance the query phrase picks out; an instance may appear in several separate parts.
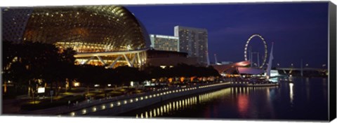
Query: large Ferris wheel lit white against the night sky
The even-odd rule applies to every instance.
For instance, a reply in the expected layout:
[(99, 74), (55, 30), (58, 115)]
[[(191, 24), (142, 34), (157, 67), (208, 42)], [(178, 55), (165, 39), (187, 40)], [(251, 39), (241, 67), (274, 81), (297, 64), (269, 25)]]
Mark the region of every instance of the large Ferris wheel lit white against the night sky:
[(265, 48), (262, 65), (258, 66), (258, 68), (263, 68), (263, 66), (265, 65), (265, 61), (267, 61), (268, 50), (267, 50), (267, 43), (265, 43), (265, 39), (260, 34), (253, 34), (249, 37), (248, 41), (246, 42), (246, 45), (244, 46), (244, 60), (245, 61), (252, 60), (251, 58), (250, 59), (247, 58), (247, 49), (248, 49), (249, 42), (251, 41), (251, 38), (254, 38), (256, 36), (259, 37), (263, 41), (263, 45)]

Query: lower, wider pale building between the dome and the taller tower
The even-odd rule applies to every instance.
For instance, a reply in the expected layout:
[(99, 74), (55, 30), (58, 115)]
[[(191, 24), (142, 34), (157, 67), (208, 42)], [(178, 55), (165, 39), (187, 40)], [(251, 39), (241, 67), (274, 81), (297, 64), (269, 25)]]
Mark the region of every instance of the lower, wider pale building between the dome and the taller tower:
[(179, 52), (179, 37), (150, 34), (151, 48)]

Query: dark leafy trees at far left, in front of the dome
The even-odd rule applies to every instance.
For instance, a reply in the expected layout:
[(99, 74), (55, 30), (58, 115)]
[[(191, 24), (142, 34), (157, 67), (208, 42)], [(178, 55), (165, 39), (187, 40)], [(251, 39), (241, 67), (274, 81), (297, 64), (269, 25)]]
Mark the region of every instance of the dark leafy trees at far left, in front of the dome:
[(4, 47), (6, 71), (3, 71), (3, 75), (17, 85), (28, 85), (33, 92), (41, 80), (48, 82), (53, 89), (53, 82), (62, 83), (65, 78), (72, 76), (65, 74), (65, 71), (70, 71), (74, 65), (74, 50), (60, 52), (55, 45), (32, 41), (20, 44), (5, 41)]

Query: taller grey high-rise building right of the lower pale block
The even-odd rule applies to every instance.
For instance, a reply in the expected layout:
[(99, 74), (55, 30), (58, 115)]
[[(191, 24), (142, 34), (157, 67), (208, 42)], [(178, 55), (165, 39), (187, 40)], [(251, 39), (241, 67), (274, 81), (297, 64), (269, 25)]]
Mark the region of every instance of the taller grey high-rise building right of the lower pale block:
[(188, 57), (197, 57), (199, 64), (208, 64), (207, 29), (176, 26), (174, 36), (179, 37), (180, 52), (187, 52)]

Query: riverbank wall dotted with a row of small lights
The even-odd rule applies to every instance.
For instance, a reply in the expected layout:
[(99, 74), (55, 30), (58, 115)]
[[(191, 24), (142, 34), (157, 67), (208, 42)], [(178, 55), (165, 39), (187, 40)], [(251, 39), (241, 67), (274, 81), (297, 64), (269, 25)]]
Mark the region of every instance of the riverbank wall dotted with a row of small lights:
[(142, 94), (139, 96), (133, 96), (130, 98), (125, 98), (119, 101), (112, 101), (109, 103), (102, 103), (97, 106), (91, 106), (81, 110), (76, 110), (67, 115), (79, 116), (79, 115), (90, 115), (90, 116), (105, 116), (105, 115), (118, 115), (121, 113), (126, 113), (131, 110), (136, 110), (138, 108), (144, 108), (146, 106), (151, 106), (155, 103), (160, 103), (161, 101), (166, 101), (169, 99), (175, 99), (181, 96), (187, 96), (191, 94), (198, 94), (202, 92), (208, 92), (215, 89), (223, 89), (226, 87), (232, 87), (230, 82), (222, 82), (213, 85), (200, 85), (192, 87), (179, 87), (177, 89), (164, 89), (158, 92), (151, 92), (150, 94)]

